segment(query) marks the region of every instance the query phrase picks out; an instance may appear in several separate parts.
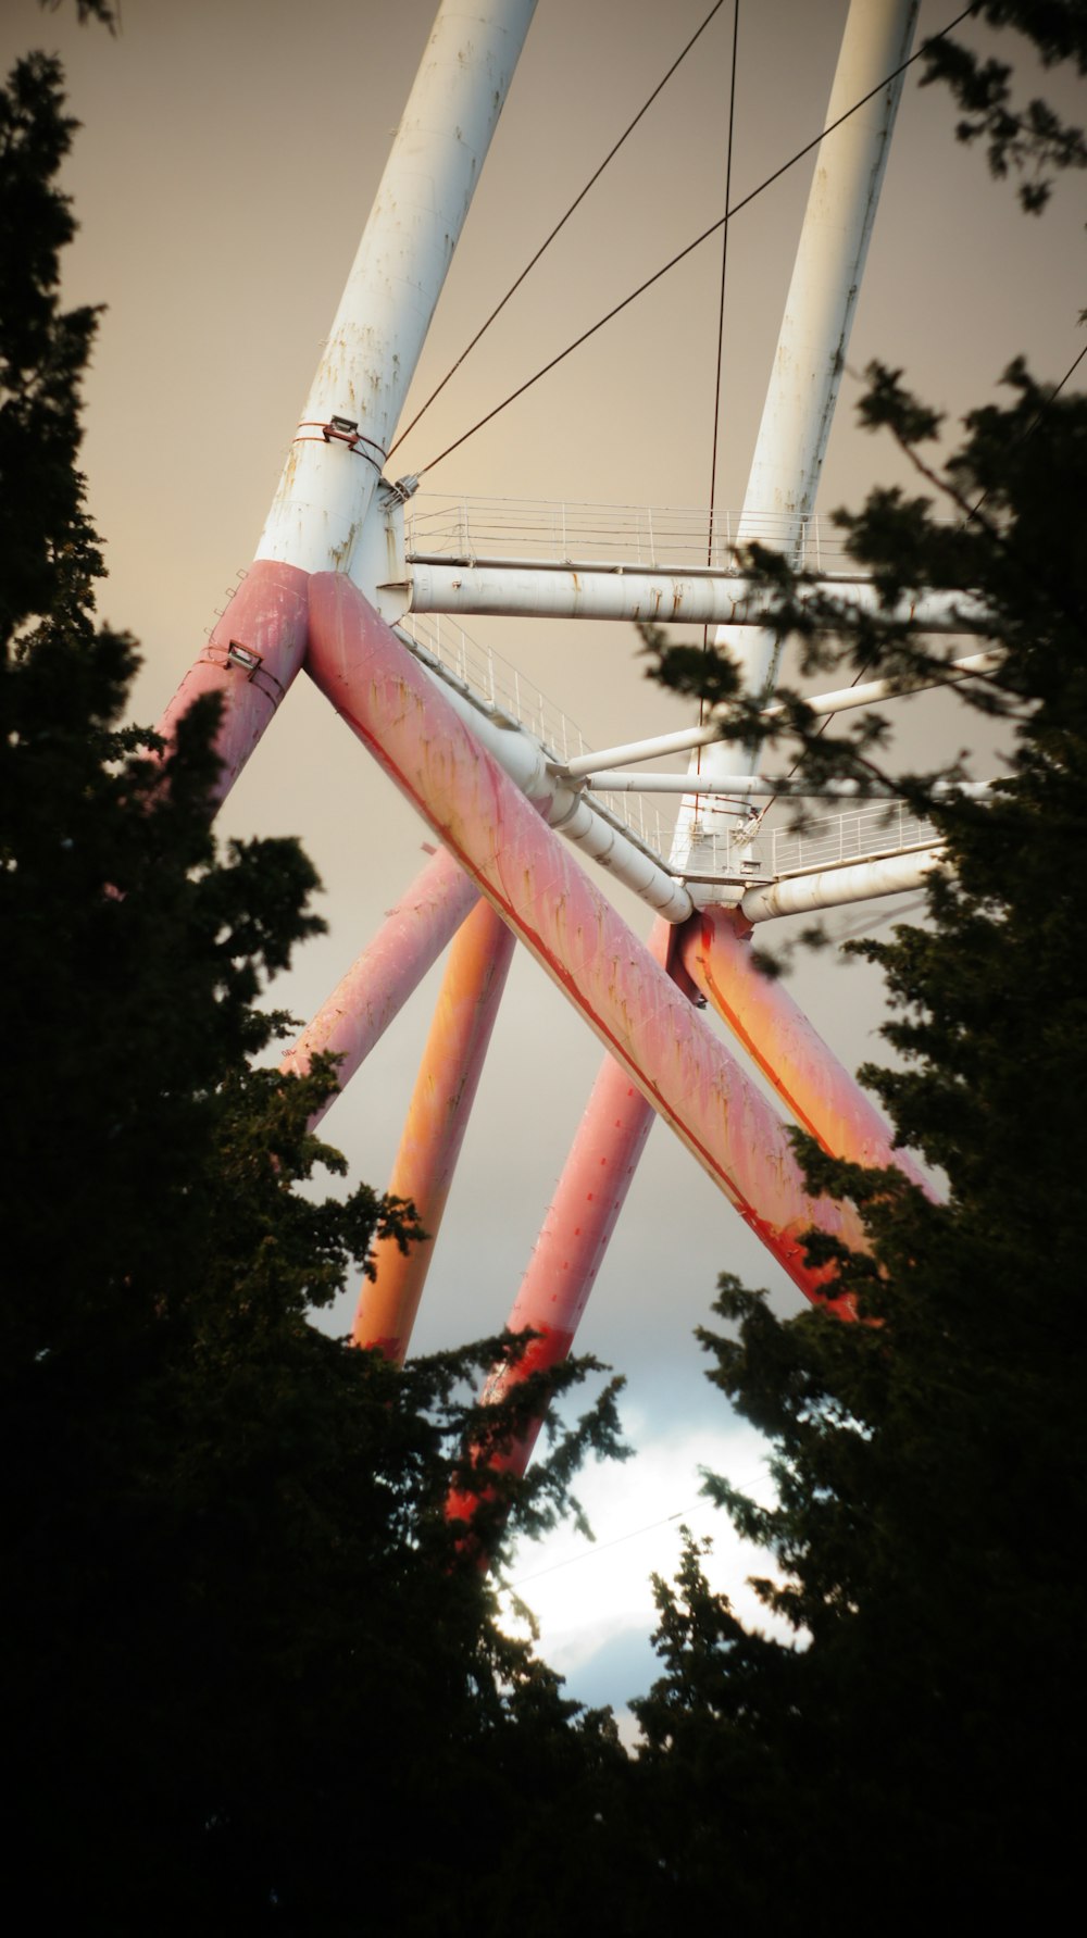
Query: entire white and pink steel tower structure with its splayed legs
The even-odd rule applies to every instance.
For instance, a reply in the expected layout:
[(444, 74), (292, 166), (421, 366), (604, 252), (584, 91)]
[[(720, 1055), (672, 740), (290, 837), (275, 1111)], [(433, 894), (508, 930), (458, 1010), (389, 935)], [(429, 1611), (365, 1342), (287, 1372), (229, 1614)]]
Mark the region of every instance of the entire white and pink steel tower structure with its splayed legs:
[[(469, 517), (465, 506), (422, 512), (415, 481), (384, 475), (533, 12), (535, 0), (442, 0), (256, 560), (159, 727), (169, 742), (200, 694), (221, 698), (223, 797), (304, 669), (442, 843), (285, 1058), (304, 1070), (333, 1050), (343, 1087), (450, 950), (389, 1180), (430, 1238), (407, 1258), (391, 1244), (378, 1250), (355, 1324), (360, 1345), (395, 1360), (407, 1353), (515, 942), (605, 1047), (510, 1314), (513, 1329), (537, 1339), (490, 1391), (570, 1351), (653, 1112), (806, 1297), (820, 1297), (820, 1273), (804, 1260), (804, 1231), (862, 1242), (851, 1205), (808, 1196), (785, 1118), (711, 1029), (705, 1006), (827, 1151), (895, 1163), (922, 1184), (787, 990), (754, 969), (750, 934), (773, 915), (899, 891), (940, 866), (932, 828), (899, 812), (887, 831), (885, 802), (837, 816), (823, 837), (808, 833), (806, 855), (796, 841), (794, 853), (767, 853), (752, 843), (748, 800), (781, 783), (756, 773), (754, 750), (725, 748), (709, 723), (593, 754), (510, 700), (459, 628), (424, 618), (698, 618), (738, 659), (746, 692), (773, 707), (777, 643), (736, 576), (732, 545), (760, 537), (796, 560), (812, 554), (816, 486), (901, 74), (880, 81), (907, 56), (916, 0), (853, 0), (827, 124), (872, 99), (818, 153), (744, 514), (717, 552), (711, 543), (709, 562), (701, 531), (701, 564), (690, 533), (672, 533), (668, 554), (661, 517), (643, 543), (632, 537), (643, 525), (634, 514), (603, 531), (603, 514), (589, 529), (585, 516), (577, 525), (562, 510), (556, 543), (554, 508), (504, 519), (479, 508)], [(984, 634), (984, 612), (938, 595), (915, 618)], [(947, 672), (963, 678), (986, 663), (971, 653)], [(818, 705), (831, 713), (885, 694), (885, 682), (870, 682)], [(692, 767), (680, 783), (637, 771), (682, 750)], [(670, 847), (626, 810), (668, 785), (682, 787)], [(649, 944), (589, 878), (585, 855), (655, 909)], [(531, 1440), (521, 1463), (529, 1452)]]

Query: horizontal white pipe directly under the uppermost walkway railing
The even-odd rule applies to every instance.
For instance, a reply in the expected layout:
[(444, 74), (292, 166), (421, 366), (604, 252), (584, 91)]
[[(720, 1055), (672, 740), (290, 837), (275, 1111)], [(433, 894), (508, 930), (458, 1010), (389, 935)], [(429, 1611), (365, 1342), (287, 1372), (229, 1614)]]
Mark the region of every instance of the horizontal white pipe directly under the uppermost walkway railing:
[[(800, 587), (800, 610), (818, 587)], [(529, 618), (599, 618), (649, 624), (767, 626), (777, 595), (750, 578), (668, 572), (572, 572), (537, 566), (413, 566), (411, 612), (455, 612)], [(876, 587), (851, 581), (847, 607), (918, 632), (990, 630), (986, 609), (971, 593), (922, 593), (884, 610)]]

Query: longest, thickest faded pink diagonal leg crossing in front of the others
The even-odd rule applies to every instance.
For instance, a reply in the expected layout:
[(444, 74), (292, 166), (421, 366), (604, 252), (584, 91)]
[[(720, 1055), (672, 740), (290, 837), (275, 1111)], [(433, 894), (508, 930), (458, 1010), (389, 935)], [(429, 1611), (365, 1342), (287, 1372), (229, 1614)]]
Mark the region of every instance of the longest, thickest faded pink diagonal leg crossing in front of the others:
[(308, 671), (488, 901), (624, 1064), (800, 1291), (810, 1227), (860, 1246), (851, 1205), (810, 1198), (785, 1126), (562, 841), (481, 748), (362, 593), (310, 581)]

